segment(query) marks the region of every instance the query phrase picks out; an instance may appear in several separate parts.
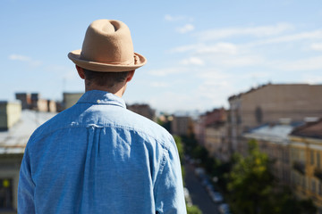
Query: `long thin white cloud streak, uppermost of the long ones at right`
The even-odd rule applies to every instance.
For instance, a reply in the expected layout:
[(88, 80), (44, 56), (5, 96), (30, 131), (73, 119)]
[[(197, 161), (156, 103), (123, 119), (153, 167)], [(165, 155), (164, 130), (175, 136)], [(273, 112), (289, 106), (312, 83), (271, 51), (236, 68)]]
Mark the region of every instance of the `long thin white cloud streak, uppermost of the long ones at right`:
[(201, 40), (216, 40), (235, 36), (268, 37), (293, 29), (289, 23), (277, 23), (272, 26), (259, 26), (249, 28), (209, 29), (197, 34)]

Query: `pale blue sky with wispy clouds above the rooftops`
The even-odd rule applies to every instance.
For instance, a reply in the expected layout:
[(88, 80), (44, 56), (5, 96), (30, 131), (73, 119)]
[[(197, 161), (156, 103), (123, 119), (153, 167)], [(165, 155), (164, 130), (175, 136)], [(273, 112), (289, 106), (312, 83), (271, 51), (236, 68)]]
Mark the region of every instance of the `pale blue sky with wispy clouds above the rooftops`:
[(123, 96), (157, 111), (229, 108), (251, 87), (322, 84), (322, 1), (0, 1), (0, 100), (83, 92), (67, 54), (98, 19), (131, 29), (148, 63)]

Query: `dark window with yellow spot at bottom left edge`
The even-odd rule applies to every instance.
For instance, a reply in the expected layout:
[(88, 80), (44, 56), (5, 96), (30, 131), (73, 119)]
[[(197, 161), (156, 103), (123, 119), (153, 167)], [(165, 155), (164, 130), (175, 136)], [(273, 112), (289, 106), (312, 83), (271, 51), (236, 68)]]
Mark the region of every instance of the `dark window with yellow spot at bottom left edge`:
[(0, 210), (13, 209), (13, 179), (0, 179)]

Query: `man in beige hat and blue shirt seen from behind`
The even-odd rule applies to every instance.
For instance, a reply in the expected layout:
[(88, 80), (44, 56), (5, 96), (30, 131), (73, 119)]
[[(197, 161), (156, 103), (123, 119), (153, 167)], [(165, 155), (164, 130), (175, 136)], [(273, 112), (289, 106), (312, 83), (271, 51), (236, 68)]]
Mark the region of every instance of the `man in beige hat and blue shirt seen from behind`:
[(126, 110), (121, 98), (134, 70), (121, 21), (89, 25), (68, 57), (85, 80), (78, 103), (30, 137), (21, 163), (19, 213), (186, 213), (173, 137)]

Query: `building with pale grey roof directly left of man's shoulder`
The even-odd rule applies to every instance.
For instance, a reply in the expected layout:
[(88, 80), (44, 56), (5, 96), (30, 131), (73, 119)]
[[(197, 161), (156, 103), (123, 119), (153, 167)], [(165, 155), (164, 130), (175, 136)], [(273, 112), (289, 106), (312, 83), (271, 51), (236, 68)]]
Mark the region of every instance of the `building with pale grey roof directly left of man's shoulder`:
[(32, 132), (54, 115), (24, 110), (18, 123), (0, 132), (0, 212), (17, 213), (19, 170), (24, 149)]

